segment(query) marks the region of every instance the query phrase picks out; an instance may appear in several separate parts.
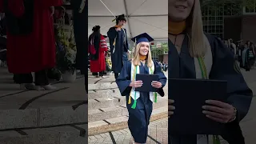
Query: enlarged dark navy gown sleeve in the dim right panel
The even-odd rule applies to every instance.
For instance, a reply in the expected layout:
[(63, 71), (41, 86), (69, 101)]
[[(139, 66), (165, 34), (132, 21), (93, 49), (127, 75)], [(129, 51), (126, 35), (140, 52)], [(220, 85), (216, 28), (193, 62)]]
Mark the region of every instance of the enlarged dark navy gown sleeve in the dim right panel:
[(213, 66), (210, 71), (211, 79), (227, 81), (228, 102), (237, 110), (236, 121), (240, 122), (250, 108), (253, 92), (247, 86), (234, 54), (218, 38), (213, 38)]

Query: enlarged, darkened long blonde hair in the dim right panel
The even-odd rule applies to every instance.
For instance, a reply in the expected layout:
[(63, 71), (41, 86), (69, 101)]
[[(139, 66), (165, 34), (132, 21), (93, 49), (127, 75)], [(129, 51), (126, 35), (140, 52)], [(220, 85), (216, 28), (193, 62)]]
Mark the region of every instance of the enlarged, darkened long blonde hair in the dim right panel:
[(193, 58), (204, 57), (208, 40), (202, 29), (202, 11), (199, 0), (194, 0), (193, 9), (186, 23), (189, 24), (187, 28), (190, 39), (190, 56)]

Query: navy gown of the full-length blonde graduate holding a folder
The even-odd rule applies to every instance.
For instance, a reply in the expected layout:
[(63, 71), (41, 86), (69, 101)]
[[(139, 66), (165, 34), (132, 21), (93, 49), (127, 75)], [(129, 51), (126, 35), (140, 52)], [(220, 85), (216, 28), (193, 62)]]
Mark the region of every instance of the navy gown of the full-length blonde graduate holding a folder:
[[(153, 103), (150, 101), (149, 93), (140, 93), (140, 97), (137, 99), (137, 106), (132, 109), (131, 106), (134, 103), (131, 98), (131, 104), (128, 104), (131, 87), (130, 85), (130, 70), (131, 62), (125, 62), (122, 71), (117, 78), (116, 82), (122, 96), (126, 96), (126, 106), (129, 111), (128, 126), (130, 133), (132, 134), (134, 141), (138, 143), (146, 143), (148, 125), (150, 124), (150, 115), (153, 109)], [(145, 66), (139, 67), (140, 74), (149, 74), (149, 68)], [(154, 62), (154, 74), (158, 74), (159, 82), (162, 83), (162, 87), (166, 85), (166, 76), (162, 73), (161, 66), (157, 62)], [(162, 88), (158, 93), (164, 96)]]

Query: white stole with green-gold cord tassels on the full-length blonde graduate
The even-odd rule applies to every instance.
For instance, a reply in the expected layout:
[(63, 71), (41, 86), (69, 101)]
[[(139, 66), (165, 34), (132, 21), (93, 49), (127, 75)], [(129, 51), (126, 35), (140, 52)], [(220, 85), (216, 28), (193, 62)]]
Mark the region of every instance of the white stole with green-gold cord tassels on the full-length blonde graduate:
[[(154, 74), (154, 62), (152, 62), (152, 66), (149, 67), (149, 73), (150, 74)], [(134, 82), (136, 81), (136, 74), (139, 74), (139, 66), (134, 66), (134, 64), (131, 64), (131, 69), (130, 69), (130, 81)], [(140, 92), (139, 91), (135, 91), (135, 88), (133, 87), (130, 90), (130, 96), (129, 96), (129, 100), (128, 100), (128, 104), (131, 104), (131, 98), (134, 99), (134, 103), (131, 106), (132, 109), (136, 109), (136, 105), (137, 105), (137, 99), (140, 97)], [(150, 101), (151, 102), (157, 102), (158, 98), (157, 98), (157, 93), (156, 92), (150, 92)]]

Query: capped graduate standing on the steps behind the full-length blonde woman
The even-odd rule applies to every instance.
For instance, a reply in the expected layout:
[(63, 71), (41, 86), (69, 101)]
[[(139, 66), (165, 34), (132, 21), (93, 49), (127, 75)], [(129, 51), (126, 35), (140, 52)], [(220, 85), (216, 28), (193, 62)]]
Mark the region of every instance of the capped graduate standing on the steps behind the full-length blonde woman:
[(126, 29), (122, 27), (126, 24), (124, 14), (119, 15), (114, 20), (116, 20), (116, 26), (110, 28), (107, 32), (107, 36), (110, 40), (110, 53), (114, 78), (118, 78), (123, 63), (128, 60), (127, 53), (129, 52), (129, 45)]

